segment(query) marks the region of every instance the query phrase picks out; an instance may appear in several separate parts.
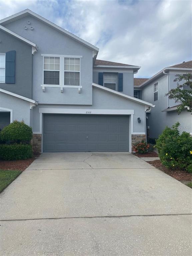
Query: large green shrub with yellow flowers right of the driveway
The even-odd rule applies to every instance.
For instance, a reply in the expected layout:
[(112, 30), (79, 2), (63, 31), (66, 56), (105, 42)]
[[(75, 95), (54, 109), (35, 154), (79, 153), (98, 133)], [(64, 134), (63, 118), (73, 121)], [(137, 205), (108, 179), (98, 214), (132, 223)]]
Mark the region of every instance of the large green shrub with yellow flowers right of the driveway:
[(192, 137), (189, 133), (179, 134), (180, 123), (167, 127), (156, 140), (161, 163), (167, 168), (187, 169), (192, 164)]

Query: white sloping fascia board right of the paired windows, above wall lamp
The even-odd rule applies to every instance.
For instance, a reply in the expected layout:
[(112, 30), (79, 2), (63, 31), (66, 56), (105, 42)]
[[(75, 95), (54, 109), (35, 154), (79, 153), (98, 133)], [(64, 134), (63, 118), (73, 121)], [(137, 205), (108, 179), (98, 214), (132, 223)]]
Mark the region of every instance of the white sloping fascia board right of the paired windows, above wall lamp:
[(154, 107), (154, 105), (153, 105), (152, 103), (149, 103), (149, 102), (147, 102), (147, 101), (134, 98), (134, 97), (132, 97), (132, 96), (129, 96), (129, 95), (124, 94), (124, 93), (121, 93), (121, 92), (114, 91), (114, 90), (112, 90), (112, 89), (109, 89), (109, 88), (107, 88), (107, 87), (101, 86), (101, 85), (99, 85), (99, 84), (92, 83), (92, 86), (93, 86), (93, 87), (96, 87), (96, 88), (99, 88), (99, 89), (101, 89), (101, 90), (104, 90), (104, 91), (113, 93), (113, 94), (115, 94), (115, 95), (121, 96), (121, 97), (123, 97), (123, 98), (125, 98), (125, 99), (131, 100), (131, 101), (134, 101), (134, 102), (137, 102), (137, 103), (139, 103), (139, 104), (142, 104), (142, 105), (145, 105), (145, 106), (149, 106), (149, 107)]

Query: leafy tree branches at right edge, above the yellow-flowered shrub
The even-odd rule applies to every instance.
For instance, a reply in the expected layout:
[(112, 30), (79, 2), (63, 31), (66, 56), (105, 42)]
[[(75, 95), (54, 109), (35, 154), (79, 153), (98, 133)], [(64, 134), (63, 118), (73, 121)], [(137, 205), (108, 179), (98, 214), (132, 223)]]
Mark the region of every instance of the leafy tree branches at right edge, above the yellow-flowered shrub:
[[(181, 81), (182, 84), (179, 84)], [(177, 82), (177, 87), (171, 89), (169, 93), (165, 94), (165, 96), (168, 96), (169, 99), (174, 99), (175, 102), (180, 103), (177, 107), (178, 114), (180, 114), (185, 107), (187, 107), (187, 112), (192, 112), (192, 74), (177, 74), (174, 82)]]

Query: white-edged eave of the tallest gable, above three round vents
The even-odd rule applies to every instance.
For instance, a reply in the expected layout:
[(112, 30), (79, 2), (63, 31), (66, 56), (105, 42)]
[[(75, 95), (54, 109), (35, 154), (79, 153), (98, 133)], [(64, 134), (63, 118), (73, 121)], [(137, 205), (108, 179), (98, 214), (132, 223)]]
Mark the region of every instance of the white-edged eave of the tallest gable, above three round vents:
[(63, 34), (65, 34), (65, 35), (67, 35), (67, 36), (73, 38), (73, 39), (76, 40), (77, 42), (79, 42), (79, 43), (81, 43), (81, 44), (83, 44), (83, 45), (85, 45), (85, 46), (91, 48), (92, 50), (94, 50), (94, 51), (96, 51), (96, 52), (99, 51), (99, 48), (97, 48), (96, 46), (94, 46), (94, 45), (92, 45), (92, 44), (90, 44), (90, 43), (84, 41), (84, 40), (81, 39), (80, 37), (75, 36), (74, 34), (70, 33), (69, 31), (67, 31), (67, 30), (65, 30), (65, 29), (63, 29), (63, 28), (61, 28), (61, 27), (59, 27), (58, 25), (56, 25), (56, 24), (54, 24), (53, 22), (51, 22), (51, 21), (49, 21), (49, 20), (43, 18), (42, 16), (36, 14), (35, 12), (32, 12), (32, 11), (29, 10), (29, 9), (26, 9), (26, 10), (24, 10), (24, 11), (18, 12), (18, 13), (16, 13), (16, 14), (13, 14), (13, 15), (7, 17), (7, 18), (4, 18), (4, 19), (0, 20), (0, 24), (1, 24), (1, 25), (6, 25), (6, 24), (8, 24), (8, 23), (10, 23), (10, 22), (13, 22), (13, 21), (15, 21), (15, 20), (21, 19), (21, 18), (23, 18), (23, 17), (26, 17), (27, 15), (34, 16), (34, 17), (37, 18), (38, 20), (41, 20), (42, 22), (44, 22), (44, 23), (46, 23), (47, 25), (53, 27), (54, 29), (56, 29), (56, 30), (62, 32)]

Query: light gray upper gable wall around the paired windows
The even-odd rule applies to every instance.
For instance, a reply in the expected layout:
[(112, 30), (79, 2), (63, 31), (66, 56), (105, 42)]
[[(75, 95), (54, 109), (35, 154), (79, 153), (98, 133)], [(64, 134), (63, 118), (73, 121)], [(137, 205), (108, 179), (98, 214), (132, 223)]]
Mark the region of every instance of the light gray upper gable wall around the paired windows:
[[(34, 29), (27, 30), (24, 26), (30, 21), (30, 26)], [(29, 25), (27, 25), (30, 27)], [(38, 46), (37, 53), (33, 57), (33, 95), (32, 98), (42, 104), (92, 104), (92, 62), (93, 51), (69, 38), (67, 35), (53, 29), (47, 24), (37, 20), (32, 16), (26, 16), (5, 25), (6, 28), (35, 42)], [(62, 54), (83, 56), (81, 58), (80, 83), (83, 86), (81, 93), (76, 88), (64, 88), (63, 93), (60, 88), (49, 87), (42, 91), (43, 84), (43, 57), (41, 54)], [(60, 72), (64, 72), (61, 70)], [(18, 93), (18, 92), (17, 92)], [(19, 93), (18, 93), (19, 94)]]

